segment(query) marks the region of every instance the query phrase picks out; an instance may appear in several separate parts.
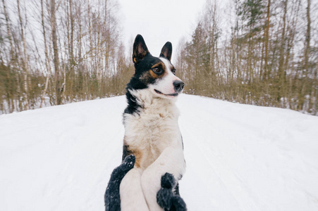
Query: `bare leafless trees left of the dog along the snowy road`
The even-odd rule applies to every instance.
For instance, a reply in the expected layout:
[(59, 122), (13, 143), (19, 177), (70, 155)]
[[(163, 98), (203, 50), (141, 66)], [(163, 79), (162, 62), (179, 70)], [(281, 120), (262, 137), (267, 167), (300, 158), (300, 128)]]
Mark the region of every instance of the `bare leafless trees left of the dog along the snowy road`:
[(124, 93), (115, 0), (1, 0), (0, 113)]

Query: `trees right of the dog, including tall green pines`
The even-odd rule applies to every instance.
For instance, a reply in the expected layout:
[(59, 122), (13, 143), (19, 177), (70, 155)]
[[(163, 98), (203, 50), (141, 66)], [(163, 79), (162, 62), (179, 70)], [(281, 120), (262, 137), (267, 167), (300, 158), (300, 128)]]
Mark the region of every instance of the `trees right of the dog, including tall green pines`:
[(178, 47), (185, 93), (317, 115), (317, 11), (312, 0), (207, 1)]

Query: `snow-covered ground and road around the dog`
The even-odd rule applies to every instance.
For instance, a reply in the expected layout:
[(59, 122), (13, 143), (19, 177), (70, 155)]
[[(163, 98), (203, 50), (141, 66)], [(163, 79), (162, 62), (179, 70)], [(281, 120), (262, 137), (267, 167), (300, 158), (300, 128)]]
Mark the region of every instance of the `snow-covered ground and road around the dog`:
[[(318, 210), (318, 117), (182, 95), (188, 210)], [(104, 210), (123, 96), (0, 116), (0, 210)]]

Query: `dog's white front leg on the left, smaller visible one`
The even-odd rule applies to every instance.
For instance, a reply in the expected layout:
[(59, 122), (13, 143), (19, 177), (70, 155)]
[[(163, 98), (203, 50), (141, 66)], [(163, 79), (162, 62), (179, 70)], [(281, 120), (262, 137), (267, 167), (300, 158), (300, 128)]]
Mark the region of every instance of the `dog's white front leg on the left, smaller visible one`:
[(149, 211), (141, 186), (141, 170), (133, 168), (121, 181), (121, 210)]

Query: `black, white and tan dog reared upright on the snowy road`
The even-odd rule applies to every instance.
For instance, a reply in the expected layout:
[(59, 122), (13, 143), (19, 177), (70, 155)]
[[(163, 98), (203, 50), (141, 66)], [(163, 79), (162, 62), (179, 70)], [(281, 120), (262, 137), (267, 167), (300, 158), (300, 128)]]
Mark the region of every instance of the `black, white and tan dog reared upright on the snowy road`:
[(123, 113), (123, 162), (106, 188), (106, 210), (186, 210), (178, 193), (185, 172), (176, 99), (184, 83), (171, 64), (166, 42), (159, 58), (141, 35), (133, 44), (135, 75), (127, 84)]

